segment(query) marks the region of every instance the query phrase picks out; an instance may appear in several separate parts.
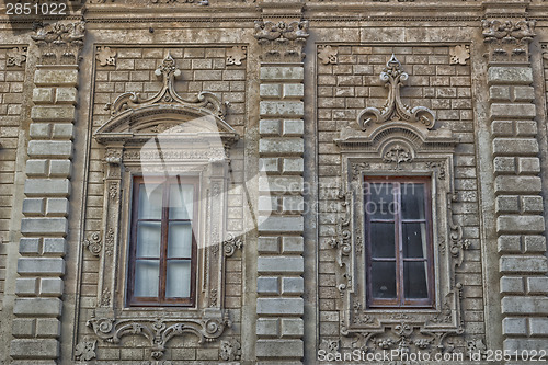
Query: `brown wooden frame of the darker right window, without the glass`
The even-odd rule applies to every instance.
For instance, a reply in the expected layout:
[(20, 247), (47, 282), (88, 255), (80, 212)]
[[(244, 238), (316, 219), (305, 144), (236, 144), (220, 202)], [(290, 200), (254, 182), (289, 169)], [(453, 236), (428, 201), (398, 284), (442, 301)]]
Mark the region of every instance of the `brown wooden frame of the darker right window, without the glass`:
[[(402, 240), (402, 223), (401, 212), (393, 215), (395, 217), (395, 255), (396, 255), (396, 299), (379, 299), (373, 297), (372, 287), (372, 240), (370, 240), (370, 217), (365, 207), (369, 202), (369, 194), (365, 191), (366, 183), (422, 183), (424, 184), (424, 205), (425, 205), (425, 224), (426, 224), (426, 266), (427, 266), (427, 290), (429, 297), (424, 299), (410, 299), (404, 297), (403, 288), (403, 240)], [(401, 186), (401, 185), (400, 185)], [(401, 192), (401, 187), (399, 190)], [(427, 308), (432, 309), (435, 305), (435, 285), (434, 285), (434, 252), (433, 252), (433, 232), (432, 232), (432, 184), (429, 176), (364, 176), (364, 217), (365, 217), (365, 239), (366, 239), (366, 287), (367, 287), (367, 307), (376, 308)], [(401, 204), (401, 194), (395, 194), (397, 203)], [(401, 205), (400, 205), (401, 206)], [(407, 219), (406, 219), (407, 220)], [(409, 259), (406, 259), (409, 261)]]

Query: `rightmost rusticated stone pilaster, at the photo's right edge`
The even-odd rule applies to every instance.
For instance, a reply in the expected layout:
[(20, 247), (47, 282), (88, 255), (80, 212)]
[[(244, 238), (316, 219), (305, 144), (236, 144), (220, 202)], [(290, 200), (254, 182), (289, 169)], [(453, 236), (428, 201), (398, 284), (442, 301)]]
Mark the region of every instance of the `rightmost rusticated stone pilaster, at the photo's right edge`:
[(488, 82), (503, 347), (511, 352), (546, 350), (548, 264), (537, 112), (528, 57), (534, 24), (523, 21), (529, 34), (510, 31), (507, 36), (516, 42), (507, 44), (491, 35), (495, 22), (484, 21), (483, 35), (490, 52)]

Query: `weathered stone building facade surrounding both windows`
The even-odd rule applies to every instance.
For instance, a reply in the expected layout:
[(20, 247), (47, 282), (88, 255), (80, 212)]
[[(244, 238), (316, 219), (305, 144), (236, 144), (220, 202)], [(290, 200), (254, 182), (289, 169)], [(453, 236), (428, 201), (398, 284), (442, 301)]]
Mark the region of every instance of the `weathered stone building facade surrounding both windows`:
[[(545, 0), (69, 9), (0, 15), (0, 363), (548, 349)], [(192, 306), (128, 304), (147, 175), (199, 181)], [(369, 307), (370, 176), (432, 185), (431, 308)]]

